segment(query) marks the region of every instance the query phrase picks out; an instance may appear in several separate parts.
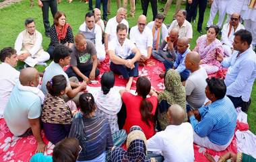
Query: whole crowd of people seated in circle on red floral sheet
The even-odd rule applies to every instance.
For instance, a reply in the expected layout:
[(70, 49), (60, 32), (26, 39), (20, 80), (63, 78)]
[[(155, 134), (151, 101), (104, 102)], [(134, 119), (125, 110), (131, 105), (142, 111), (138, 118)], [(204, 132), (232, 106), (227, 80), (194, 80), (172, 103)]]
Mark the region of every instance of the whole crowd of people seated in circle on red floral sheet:
[[(15, 49), (0, 51), (0, 118), (14, 136), (36, 138), (39, 154), (31, 161), (192, 162), (193, 143), (214, 151), (230, 145), (235, 109), (248, 111), (256, 78), (253, 38), (237, 22), (240, 15), (232, 14), (224, 25), (222, 42), (220, 29), (213, 25), (193, 50), (186, 11), (177, 11), (169, 30), (162, 14), (148, 24), (147, 17), (139, 15), (129, 36), (125, 15), (126, 9), (119, 8), (104, 30), (100, 10), (94, 9), (86, 13), (73, 36), (65, 13), (57, 11), (48, 52), (42, 49), (34, 20), (28, 18)], [(98, 67), (107, 55), (110, 71), (100, 75)], [(44, 65), (50, 56), (53, 60), (39, 87), (34, 66)], [(139, 66), (147, 66), (154, 58), (165, 67), (159, 76), (163, 91), (153, 89), (148, 77), (139, 76)], [(28, 66), (16, 71), (18, 60)], [(222, 68), (227, 69), (225, 79), (208, 78)], [(121, 90), (115, 87), (115, 74), (127, 81)], [(87, 84), (99, 76), (100, 89), (90, 93)], [(131, 91), (134, 82), (135, 93)], [(210, 102), (205, 104), (207, 99)], [(42, 155), (46, 147), (42, 129), (56, 144), (53, 157)], [(247, 158), (239, 153), (225, 158), (233, 156)]]

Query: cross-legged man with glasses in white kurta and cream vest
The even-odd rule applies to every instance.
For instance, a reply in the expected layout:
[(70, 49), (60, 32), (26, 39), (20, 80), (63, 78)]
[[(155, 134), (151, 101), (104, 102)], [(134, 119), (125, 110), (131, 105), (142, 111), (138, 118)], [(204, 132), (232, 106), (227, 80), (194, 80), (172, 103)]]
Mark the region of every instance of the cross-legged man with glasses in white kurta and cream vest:
[(24, 61), (28, 66), (44, 65), (46, 60), (49, 60), (49, 53), (42, 48), (42, 34), (36, 30), (34, 19), (28, 18), (25, 20), (26, 29), (20, 32), (15, 41), (15, 50), (18, 54), (18, 59)]

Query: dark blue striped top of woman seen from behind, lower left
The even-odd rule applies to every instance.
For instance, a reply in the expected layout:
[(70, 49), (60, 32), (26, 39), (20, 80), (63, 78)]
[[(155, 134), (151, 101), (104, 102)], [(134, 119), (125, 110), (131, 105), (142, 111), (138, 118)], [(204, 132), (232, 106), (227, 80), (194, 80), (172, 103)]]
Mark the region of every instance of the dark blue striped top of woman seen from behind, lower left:
[(113, 139), (107, 120), (99, 119), (96, 116), (92, 118), (84, 118), (84, 116), (75, 118), (69, 137), (77, 138), (82, 147), (78, 161), (95, 159), (104, 151), (113, 147)]

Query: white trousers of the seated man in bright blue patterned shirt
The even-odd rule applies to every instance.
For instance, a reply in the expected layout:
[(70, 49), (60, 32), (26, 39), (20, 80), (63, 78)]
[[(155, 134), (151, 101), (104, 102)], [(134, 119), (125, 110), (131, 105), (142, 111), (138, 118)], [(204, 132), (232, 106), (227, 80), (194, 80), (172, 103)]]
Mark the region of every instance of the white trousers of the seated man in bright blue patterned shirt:
[(232, 136), (232, 138), (228, 141), (226, 145), (217, 145), (215, 143), (212, 143), (207, 136), (198, 136), (195, 131), (193, 131), (193, 137), (194, 143), (199, 145), (200, 147), (205, 147), (207, 149), (212, 149), (214, 151), (224, 151), (230, 145), (234, 136)]

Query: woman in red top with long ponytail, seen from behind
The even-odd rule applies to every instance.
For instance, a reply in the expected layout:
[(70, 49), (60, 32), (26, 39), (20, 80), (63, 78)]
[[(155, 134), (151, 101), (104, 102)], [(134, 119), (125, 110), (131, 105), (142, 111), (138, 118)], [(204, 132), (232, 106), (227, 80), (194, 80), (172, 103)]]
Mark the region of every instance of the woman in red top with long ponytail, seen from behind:
[[(125, 90), (120, 91), (127, 112), (123, 129), (128, 134), (131, 126), (140, 126), (148, 139), (155, 134), (154, 114), (158, 105), (158, 95), (151, 90), (151, 83), (147, 77), (137, 79), (136, 91), (137, 95)], [(148, 94), (150, 97), (147, 98)]]

